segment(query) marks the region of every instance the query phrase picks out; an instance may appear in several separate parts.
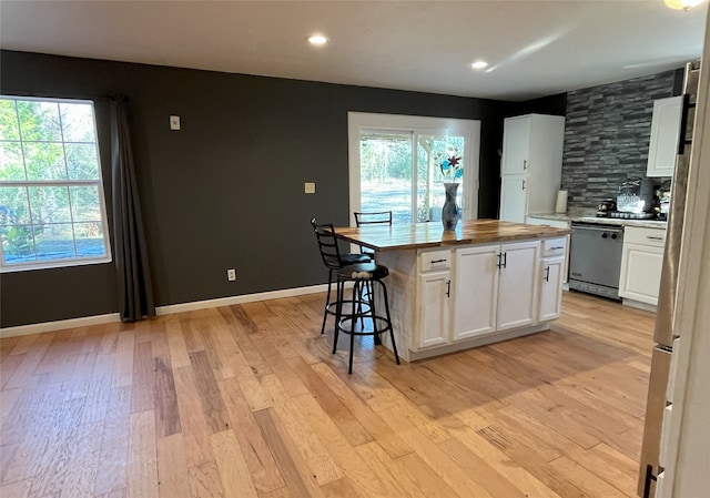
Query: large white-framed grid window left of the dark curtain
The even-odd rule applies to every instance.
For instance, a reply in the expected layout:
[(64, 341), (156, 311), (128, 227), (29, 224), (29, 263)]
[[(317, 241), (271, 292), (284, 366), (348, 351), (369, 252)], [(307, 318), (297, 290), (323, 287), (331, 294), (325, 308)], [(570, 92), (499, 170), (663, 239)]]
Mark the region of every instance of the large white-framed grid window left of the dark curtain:
[(0, 96), (0, 270), (111, 260), (93, 103)]

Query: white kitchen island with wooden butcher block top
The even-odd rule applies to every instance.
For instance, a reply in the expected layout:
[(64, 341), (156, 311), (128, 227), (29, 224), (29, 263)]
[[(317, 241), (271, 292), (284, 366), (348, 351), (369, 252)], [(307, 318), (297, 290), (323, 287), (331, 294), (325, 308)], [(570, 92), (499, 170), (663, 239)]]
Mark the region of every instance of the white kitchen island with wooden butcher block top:
[[(416, 360), (546, 331), (559, 316), (568, 230), (474, 220), (336, 228), (376, 252), (399, 356)], [(388, 337), (383, 344), (392, 347)]]

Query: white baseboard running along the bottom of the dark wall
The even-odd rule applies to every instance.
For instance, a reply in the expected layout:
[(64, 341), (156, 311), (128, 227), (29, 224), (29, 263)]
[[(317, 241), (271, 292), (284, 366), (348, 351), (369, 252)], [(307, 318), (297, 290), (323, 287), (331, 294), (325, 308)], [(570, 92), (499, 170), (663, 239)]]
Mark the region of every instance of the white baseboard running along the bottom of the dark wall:
[[(216, 299), (194, 301), (192, 303), (171, 304), (158, 306), (155, 313), (160, 315), (171, 315), (173, 313), (192, 312), (195, 309), (212, 308), (217, 306), (231, 306), (233, 304), (253, 303), (255, 301), (278, 299), (283, 297), (294, 297), (305, 294), (315, 294), (327, 291), (327, 284), (311, 285), (308, 287), (284, 288), (281, 291), (268, 291), (256, 294), (245, 294), (241, 296), (220, 297)], [(85, 327), (89, 325), (101, 325), (120, 322), (118, 313), (105, 315), (83, 316), (81, 318), (60, 319), (57, 322), (43, 322), (40, 324), (19, 325), (17, 327), (0, 328), (0, 338), (14, 337), (19, 335), (41, 334), (43, 332), (62, 331), (64, 328)]]

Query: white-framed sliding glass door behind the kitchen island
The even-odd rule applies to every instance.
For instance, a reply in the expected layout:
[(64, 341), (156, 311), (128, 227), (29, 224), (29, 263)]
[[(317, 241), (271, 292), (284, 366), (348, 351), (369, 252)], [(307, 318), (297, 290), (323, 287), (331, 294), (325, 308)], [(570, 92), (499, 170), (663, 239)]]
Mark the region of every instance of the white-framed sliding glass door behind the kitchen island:
[(351, 211), (392, 211), (393, 223), (440, 220), (442, 160), (460, 157), (464, 218), (478, 216), (480, 122), (348, 113)]

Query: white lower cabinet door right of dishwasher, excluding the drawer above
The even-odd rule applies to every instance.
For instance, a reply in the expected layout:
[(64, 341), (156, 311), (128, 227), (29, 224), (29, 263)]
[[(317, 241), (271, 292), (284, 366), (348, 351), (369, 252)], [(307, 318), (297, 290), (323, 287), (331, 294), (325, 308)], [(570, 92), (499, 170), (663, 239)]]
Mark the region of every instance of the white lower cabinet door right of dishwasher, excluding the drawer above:
[(663, 247), (623, 243), (619, 296), (658, 304)]

